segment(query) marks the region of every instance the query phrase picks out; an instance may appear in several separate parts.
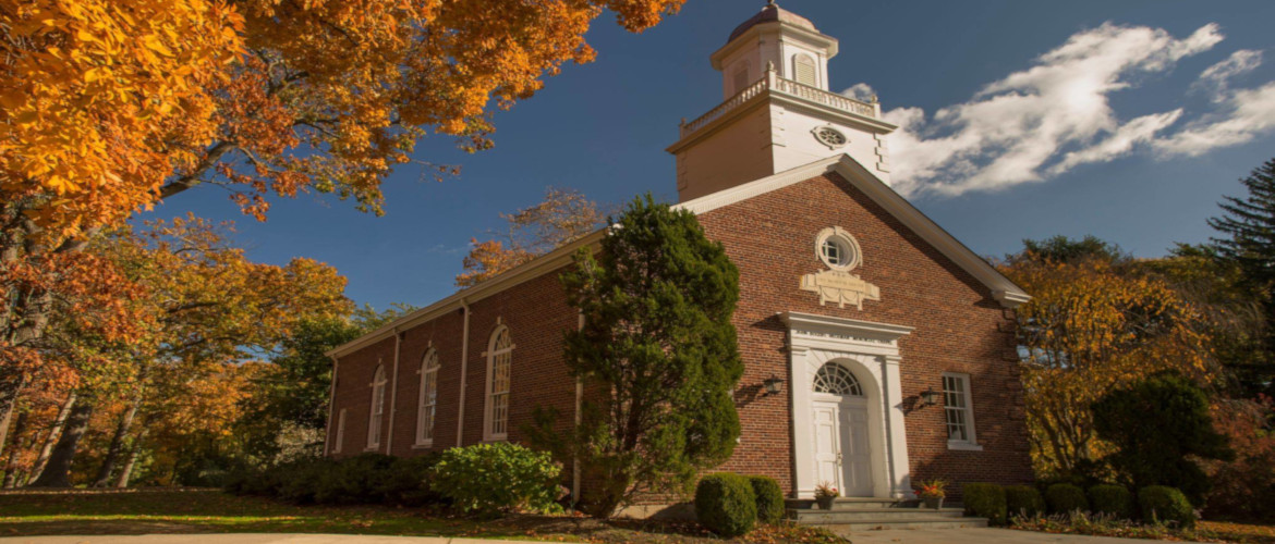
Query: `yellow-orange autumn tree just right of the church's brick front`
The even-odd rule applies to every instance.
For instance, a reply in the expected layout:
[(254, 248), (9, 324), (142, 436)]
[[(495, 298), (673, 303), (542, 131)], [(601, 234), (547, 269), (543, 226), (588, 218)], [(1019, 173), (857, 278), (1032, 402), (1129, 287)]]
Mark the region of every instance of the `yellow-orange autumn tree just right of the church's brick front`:
[(1015, 310), (1028, 438), (1038, 475), (1099, 475), (1111, 446), (1090, 405), (1159, 371), (1216, 375), (1205, 308), (1148, 262), (1096, 238), (1028, 241), (1000, 266), (1033, 299)]

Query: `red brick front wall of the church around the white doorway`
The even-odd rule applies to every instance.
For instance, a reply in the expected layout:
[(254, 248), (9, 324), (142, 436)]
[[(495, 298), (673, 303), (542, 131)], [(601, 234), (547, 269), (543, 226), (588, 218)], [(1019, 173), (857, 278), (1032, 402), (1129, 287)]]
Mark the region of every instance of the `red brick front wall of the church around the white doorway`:
[[(913, 479), (1025, 482), (1031, 476), (1009, 311), (989, 289), (910, 232), (836, 175), (808, 180), (700, 215), (740, 268), (734, 324), (746, 363), (736, 395), (743, 433), (724, 469), (766, 474), (792, 489), (789, 395), (762, 396), (762, 380), (793, 382), (785, 327), (775, 316), (797, 311), (849, 317), (915, 330), (900, 340), (904, 399), (928, 387), (942, 390), (942, 372), (970, 375), (974, 420), (983, 451), (950, 451), (942, 406), (905, 417)], [(799, 289), (801, 276), (826, 269), (815, 238), (839, 225), (862, 248), (853, 270), (881, 288), (881, 301), (863, 310), (820, 306)]]

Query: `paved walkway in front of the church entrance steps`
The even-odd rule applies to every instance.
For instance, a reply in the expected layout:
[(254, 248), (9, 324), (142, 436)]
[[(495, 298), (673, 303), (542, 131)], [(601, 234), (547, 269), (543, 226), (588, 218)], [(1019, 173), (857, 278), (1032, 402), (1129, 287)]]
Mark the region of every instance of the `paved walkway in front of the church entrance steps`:
[(1111, 536), (1056, 535), (1012, 529), (891, 529), (844, 533), (841, 536), (850, 539), (854, 544), (1146, 544), (1155, 541)]

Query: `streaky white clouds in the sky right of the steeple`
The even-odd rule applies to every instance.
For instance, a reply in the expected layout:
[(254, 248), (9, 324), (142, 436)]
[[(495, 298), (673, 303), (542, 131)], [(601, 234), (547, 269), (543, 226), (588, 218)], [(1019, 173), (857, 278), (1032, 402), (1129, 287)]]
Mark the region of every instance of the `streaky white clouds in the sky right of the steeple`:
[[(1183, 108), (1130, 120), (1112, 108), (1112, 93), (1136, 87), (1148, 74), (1165, 73), (1221, 39), (1216, 24), (1179, 39), (1158, 28), (1105, 23), (1071, 36), (1029, 69), (987, 84), (968, 102), (931, 116), (915, 107), (891, 110), (885, 118), (899, 125), (890, 140), (894, 186), (903, 194), (997, 190), (1140, 148), (1162, 157), (1193, 155), (1275, 129), (1275, 84), (1228, 90), (1232, 78), (1260, 65), (1256, 51), (1235, 52), (1201, 74), (1197, 84), (1214, 93), (1221, 111), (1176, 132)], [(871, 88), (859, 84), (844, 94), (866, 90)]]

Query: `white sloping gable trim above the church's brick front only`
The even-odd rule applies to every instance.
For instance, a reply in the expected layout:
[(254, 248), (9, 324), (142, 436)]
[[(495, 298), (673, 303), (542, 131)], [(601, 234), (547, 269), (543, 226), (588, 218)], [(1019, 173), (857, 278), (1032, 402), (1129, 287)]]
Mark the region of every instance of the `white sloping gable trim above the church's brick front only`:
[(859, 164), (858, 161), (854, 161), (848, 154), (815, 161), (774, 176), (677, 204), (674, 208), (686, 209), (700, 215), (831, 172), (840, 175), (856, 189), (863, 191), (864, 195), (884, 208), (886, 213), (899, 219), (900, 223), (919, 234), (922, 240), (935, 246), (943, 256), (951, 259), (952, 262), (991, 289), (992, 297), (1001, 306), (1012, 308), (1031, 299), (1031, 296), (1023, 290), (1023, 288), (1015, 285), (1014, 282), (996, 270), (987, 260), (978, 256), (978, 254), (947, 231), (943, 231), (933, 219), (921, 213), (917, 206), (913, 206), (912, 203), (895, 192), (894, 189), (890, 189), (881, 178), (876, 177), (872, 171), (864, 168), (863, 164)]

